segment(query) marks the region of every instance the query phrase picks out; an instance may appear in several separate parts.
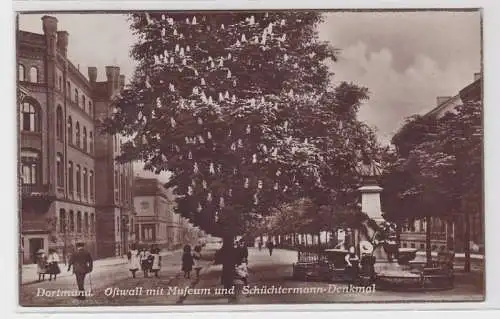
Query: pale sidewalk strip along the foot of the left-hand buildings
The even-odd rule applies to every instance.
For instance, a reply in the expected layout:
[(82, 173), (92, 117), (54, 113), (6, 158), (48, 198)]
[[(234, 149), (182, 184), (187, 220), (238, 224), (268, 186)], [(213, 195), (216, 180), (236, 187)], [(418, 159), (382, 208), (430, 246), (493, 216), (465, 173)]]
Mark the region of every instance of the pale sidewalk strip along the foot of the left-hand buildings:
[[(177, 250), (162, 251), (161, 256), (162, 257), (170, 256), (176, 251)], [(128, 259), (127, 256), (125, 255), (121, 257), (120, 256), (108, 257), (108, 258), (94, 260), (94, 268), (124, 265), (126, 263), (128, 263)], [(61, 268), (61, 273), (57, 275), (58, 278), (68, 277), (73, 275), (71, 272), (65, 271), (64, 268), (67, 267), (67, 265), (65, 265), (64, 263), (59, 263), (59, 267)], [(45, 275), (46, 277), (45, 279), (48, 279), (48, 276), (49, 275)], [(38, 280), (37, 265), (36, 264), (23, 265), (21, 270), (21, 285), (34, 283), (37, 280)]]

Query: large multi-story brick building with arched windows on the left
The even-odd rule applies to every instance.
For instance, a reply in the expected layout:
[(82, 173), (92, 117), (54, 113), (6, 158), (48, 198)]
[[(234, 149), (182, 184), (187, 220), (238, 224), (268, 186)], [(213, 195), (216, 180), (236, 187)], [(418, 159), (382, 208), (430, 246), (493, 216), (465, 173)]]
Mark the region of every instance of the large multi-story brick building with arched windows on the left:
[[(100, 170), (99, 161), (101, 157), (112, 161), (114, 154), (104, 154), (97, 147), (101, 139), (113, 138), (97, 134), (95, 124), (96, 112), (109, 105), (111, 96), (104, 99), (95, 80), (87, 80), (69, 61), (69, 35), (58, 31), (57, 23), (55, 17), (44, 16), (43, 34), (17, 33), (19, 216), (24, 262), (49, 247), (67, 256), (77, 241), (85, 242), (95, 256), (96, 224), (101, 219), (97, 195), (103, 191), (102, 180), (113, 174)], [(107, 82), (119, 81), (116, 78), (113, 74)]]

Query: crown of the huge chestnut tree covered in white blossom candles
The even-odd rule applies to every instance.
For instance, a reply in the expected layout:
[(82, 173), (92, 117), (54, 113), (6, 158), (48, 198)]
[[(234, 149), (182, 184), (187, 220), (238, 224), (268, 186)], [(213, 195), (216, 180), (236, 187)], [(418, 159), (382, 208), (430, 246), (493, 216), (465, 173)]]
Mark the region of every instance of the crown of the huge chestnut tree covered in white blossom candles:
[(131, 15), (135, 76), (107, 131), (130, 137), (121, 161), (171, 172), (178, 210), (224, 238), (302, 196), (348, 202), (367, 90), (330, 88), (337, 51), (318, 40), (318, 12)]

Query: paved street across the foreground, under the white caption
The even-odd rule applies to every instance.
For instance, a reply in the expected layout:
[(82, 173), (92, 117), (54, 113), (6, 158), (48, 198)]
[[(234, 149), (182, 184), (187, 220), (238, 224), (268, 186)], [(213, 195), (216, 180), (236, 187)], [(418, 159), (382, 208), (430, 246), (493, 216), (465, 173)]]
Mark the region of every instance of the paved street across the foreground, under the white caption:
[[(205, 259), (212, 259), (213, 251), (203, 252)], [(275, 250), (269, 256), (267, 250), (249, 250), (249, 286), (257, 288), (309, 288), (309, 292), (286, 294), (248, 294), (239, 303), (330, 303), (330, 302), (390, 302), (390, 301), (464, 301), (482, 299), (482, 276), (478, 272), (464, 274), (457, 271), (455, 288), (437, 292), (390, 292), (373, 293), (342, 292), (345, 284), (329, 286), (324, 282), (303, 282), (291, 279), (292, 263), (296, 260), (296, 252)], [(126, 265), (110, 265), (95, 269), (87, 280), (91, 285), (93, 297), (85, 301), (77, 301), (71, 297), (37, 296), (38, 288), (73, 289), (73, 277), (64, 277), (56, 282), (23, 285), (21, 288), (21, 304), (33, 306), (59, 305), (175, 305), (175, 304), (225, 304), (228, 299), (217, 293), (220, 285), (220, 265), (211, 265), (205, 261), (200, 280), (184, 279), (181, 272), (181, 252), (177, 251), (164, 258), (160, 278), (132, 279)], [(194, 276), (193, 276), (194, 277)], [(90, 280), (92, 283), (90, 284)], [(142, 288), (142, 289), (141, 289)], [(162, 290), (163, 288), (163, 290)], [(316, 289), (316, 291), (314, 291)], [(317, 292), (326, 289), (330, 292)], [(251, 292), (251, 290), (250, 290)]]

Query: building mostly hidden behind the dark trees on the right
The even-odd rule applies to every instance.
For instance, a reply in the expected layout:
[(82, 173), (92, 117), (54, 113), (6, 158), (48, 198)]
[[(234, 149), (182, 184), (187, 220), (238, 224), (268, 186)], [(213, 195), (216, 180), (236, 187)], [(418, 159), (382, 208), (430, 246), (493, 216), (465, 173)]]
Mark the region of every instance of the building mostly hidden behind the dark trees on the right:
[[(467, 101), (480, 101), (482, 99), (482, 75), (481, 73), (474, 74), (474, 81), (455, 96), (443, 96), (437, 98), (437, 106), (425, 116), (440, 118), (447, 112), (453, 112), (455, 108)], [(482, 252), (484, 250), (484, 214), (482, 212), (471, 212), (470, 229), (471, 229), (471, 248), (474, 252)], [(413, 223), (406, 225), (401, 233), (402, 247), (417, 248), (425, 250), (425, 220), (415, 220)], [(464, 216), (458, 215), (453, 221), (444, 221), (440, 218), (432, 218), (431, 220), (431, 249), (434, 251), (441, 250), (447, 245), (447, 238), (453, 238), (455, 251), (464, 251), (464, 236), (465, 220)]]

